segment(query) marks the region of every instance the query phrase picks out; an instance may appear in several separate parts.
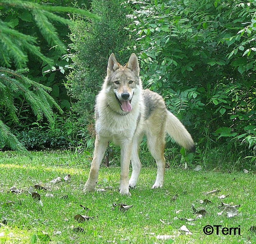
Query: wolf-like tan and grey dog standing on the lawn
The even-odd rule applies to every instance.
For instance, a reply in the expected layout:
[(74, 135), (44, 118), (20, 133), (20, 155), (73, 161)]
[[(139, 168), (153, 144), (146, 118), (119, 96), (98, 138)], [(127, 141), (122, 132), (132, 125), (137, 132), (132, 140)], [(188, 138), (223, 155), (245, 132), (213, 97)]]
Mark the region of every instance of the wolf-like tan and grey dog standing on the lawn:
[[(97, 184), (100, 163), (109, 140), (121, 146), (119, 192), (122, 195), (130, 195), (129, 188), (136, 186), (142, 166), (138, 151), (143, 135), (147, 137), (149, 151), (157, 164), (156, 181), (152, 189), (163, 186), (166, 132), (180, 146), (195, 152), (195, 143), (190, 133), (179, 119), (167, 110), (162, 96), (149, 89), (143, 90), (139, 72), (135, 53), (131, 54), (124, 66), (116, 61), (114, 53), (110, 55), (107, 77), (96, 97), (95, 147), (84, 192), (93, 191)], [(130, 161), (132, 174), (129, 180)]]

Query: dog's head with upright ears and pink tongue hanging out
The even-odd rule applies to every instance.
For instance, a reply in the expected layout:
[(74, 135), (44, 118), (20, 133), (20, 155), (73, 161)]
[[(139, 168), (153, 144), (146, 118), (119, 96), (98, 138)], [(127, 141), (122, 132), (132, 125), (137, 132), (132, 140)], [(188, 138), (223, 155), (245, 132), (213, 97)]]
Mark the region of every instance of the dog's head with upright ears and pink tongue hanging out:
[(116, 61), (114, 53), (110, 55), (107, 65), (107, 90), (114, 92), (122, 111), (132, 110), (131, 102), (135, 89), (141, 85), (139, 73), (139, 62), (135, 53), (124, 66)]

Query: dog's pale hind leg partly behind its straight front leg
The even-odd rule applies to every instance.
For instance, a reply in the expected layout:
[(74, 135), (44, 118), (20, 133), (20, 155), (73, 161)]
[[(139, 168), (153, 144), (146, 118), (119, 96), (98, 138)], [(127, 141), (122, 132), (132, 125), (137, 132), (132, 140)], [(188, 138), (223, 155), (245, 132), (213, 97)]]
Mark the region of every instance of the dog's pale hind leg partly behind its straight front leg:
[(138, 155), (140, 141), (141, 140), (138, 140), (137, 138), (134, 138), (134, 141), (133, 141), (132, 155), (131, 155), (132, 175), (129, 180), (129, 188), (134, 188), (136, 186), (139, 173), (141, 171), (141, 161)]

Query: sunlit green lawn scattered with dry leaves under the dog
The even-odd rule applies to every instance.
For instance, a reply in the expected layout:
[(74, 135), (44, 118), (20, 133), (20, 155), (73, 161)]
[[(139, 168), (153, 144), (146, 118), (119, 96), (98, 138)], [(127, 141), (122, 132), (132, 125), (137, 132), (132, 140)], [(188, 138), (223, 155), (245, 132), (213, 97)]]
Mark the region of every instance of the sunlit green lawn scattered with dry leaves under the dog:
[[(39, 237), (37, 243), (49, 244), (255, 243), (256, 234), (249, 230), (256, 225), (255, 174), (171, 168), (166, 170), (164, 187), (151, 190), (156, 169), (144, 166), (138, 185), (128, 197), (117, 192), (120, 168), (102, 166), (97, 189), (105, 191), (84, 194), (81, 190), (89, 172), (88, 157), (71, 152), (33, 152), (33, 158), (29, 159), (14, 152), (0, 152), (0, 243), (30, 244), (33, 234)], [(71, 180), (50, 183), (67, 174), (71, 175)], [(34, 189), (41, 195), (41, 201), (27, 193), (29, 187), (36, 184), (47, 189)], [(10, 193), (12, 186), (21, 192)], [(203, 193), (213, 189), (219, 189), (219, 192)], [(222, 194), (226, 197), (220, 200), (218, 196)], [(173, 199), (175, 195), (176, 200)], [(204, 199), (211, 203), (201, 204), (199, 200)], [(238, 216), (218, 215), (222, 211), (218, 208), (221, 201), (239, 205)], [(114, 202), (133, 207), (122, 212), (112, 208)], [(186, 220), (196, 217), (192, 203), (197, 209), (204, 208), (206, 215)], [(76, 214), (93, 219), (78, 223), (74, 219)], [(180, 231), (183, 225), (191, 234)], [(206, 225), (240, 226), (240, 235), (224, 235), (222, 227), (220, 234), (215, 231), (206, 235), (203, 232)], [(75, 232), (76, 227), (83, 228), (84, 232)], [(157, 239), (158, 235), (171, 238)]]

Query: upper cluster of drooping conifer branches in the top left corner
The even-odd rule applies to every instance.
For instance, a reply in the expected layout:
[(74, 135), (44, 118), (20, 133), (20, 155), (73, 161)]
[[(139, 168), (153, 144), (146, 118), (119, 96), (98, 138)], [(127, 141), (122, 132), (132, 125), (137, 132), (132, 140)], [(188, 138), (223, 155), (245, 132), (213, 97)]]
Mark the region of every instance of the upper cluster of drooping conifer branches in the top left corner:
[[(25, 12), (23, 19), (31, 21), (31, 18), (33, 17), (41, 35), (45, 38), (48, 45), (50, 47), (55, 46), (62, 53), (66, 53), (65, 44), (59, 39), (56, 29), (51, 22), (60, 22), (62, 24), (69, 25), (74, 25), (74, 23), (69, 19), (53, 14), (53, 11), (71, 13), (76, 12), (96, 18), (98, 20), (100, 19), (95, 14), (73, 7), (42, 5), (30, 1), (20, 0), (3, 0), (0, 3), (0, 7), (2, 9), (9, 6), (11, 8), (29, 10)], [(34, 37), (22, 34), (13, 29), (17, 24), (18, 19), (10, 19), (10, 21), (8, 21), (7, 18), (4, 22), (0, 20), (0, 40), (2, 42), (0, 49), (0, 65), (10, 68), (13, 62), (16, 68), (24, 68), (28, 62), (28, 52), (32, 53), (34, 56), (37, 56), (42, 61), (52, 64), (52, 60), (45, 57), (39, 50), (39, 47), (36, 46), (36, 39)]]

